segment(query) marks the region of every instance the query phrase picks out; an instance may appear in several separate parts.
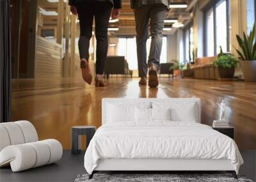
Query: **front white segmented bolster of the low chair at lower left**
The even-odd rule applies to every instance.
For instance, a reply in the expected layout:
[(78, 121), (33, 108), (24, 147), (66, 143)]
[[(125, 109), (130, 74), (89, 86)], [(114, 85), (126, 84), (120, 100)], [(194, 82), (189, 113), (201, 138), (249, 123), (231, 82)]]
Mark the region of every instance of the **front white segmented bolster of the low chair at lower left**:
[(54, 139), (7, 146), (0, 152), (0, 167), (10, 163), (13, 172), (23, 171), (56, 162), (62, 152), (60, 142)]

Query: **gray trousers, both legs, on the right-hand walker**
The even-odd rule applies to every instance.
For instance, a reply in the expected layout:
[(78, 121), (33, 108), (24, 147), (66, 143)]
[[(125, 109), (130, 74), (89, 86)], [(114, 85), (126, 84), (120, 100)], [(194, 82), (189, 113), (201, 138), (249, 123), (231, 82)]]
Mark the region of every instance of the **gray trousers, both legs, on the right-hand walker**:
[[(136, 42), (139, 77), (146, 77), (148, 64), (154, 63), (159, 67), (162, 49), (162, 31), (166, 6), (163, 4), (143, 5), (134, 10), (136, 20)], [(147, 64), (146, 43), (148, 38), (148, 20), (150, 19), (151, 44)]]

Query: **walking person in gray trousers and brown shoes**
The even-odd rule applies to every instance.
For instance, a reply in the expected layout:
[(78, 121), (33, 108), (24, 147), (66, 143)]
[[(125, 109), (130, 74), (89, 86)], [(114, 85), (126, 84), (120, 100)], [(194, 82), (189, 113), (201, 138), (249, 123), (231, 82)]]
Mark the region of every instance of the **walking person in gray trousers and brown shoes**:
[[(170, 0), (131, 0), (136, 21), (136, 43), (140, 85), (157, 87), (157, 70), (163, 42), (163, 27)], [(150, 20), (151, 44), (147, 63), (146, 43), (148, 39), (148, 22)], [(149, 69), (149, 70), (148, 70)]]

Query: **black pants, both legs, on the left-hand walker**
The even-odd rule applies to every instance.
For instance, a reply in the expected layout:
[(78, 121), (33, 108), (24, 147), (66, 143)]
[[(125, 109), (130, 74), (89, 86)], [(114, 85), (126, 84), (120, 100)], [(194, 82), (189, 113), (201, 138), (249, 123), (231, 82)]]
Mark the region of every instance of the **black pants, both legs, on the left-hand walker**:
[(95, 17), (96, 48), (96, 74), (103, 74), (106, 56), (108, 53), (108, 23), (112, 9), (108, 2), (76, 3), (80, 24), (80, 38), (78, 42), (80, 59), (89, 59), (90, 39), (92, 37), (92, 23)]

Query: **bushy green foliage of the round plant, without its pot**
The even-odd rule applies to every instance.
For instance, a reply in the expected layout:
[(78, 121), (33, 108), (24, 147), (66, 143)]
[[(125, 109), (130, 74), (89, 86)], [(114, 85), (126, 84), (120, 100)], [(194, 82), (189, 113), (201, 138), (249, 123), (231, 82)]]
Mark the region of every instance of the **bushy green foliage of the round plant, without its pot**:
[(222, 54), (213, 62), (214, 66), (220, 68), (233, 68), (236, 67), (238, 61), (232, 54)]

